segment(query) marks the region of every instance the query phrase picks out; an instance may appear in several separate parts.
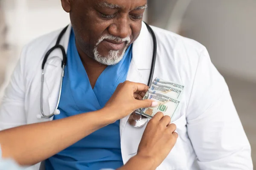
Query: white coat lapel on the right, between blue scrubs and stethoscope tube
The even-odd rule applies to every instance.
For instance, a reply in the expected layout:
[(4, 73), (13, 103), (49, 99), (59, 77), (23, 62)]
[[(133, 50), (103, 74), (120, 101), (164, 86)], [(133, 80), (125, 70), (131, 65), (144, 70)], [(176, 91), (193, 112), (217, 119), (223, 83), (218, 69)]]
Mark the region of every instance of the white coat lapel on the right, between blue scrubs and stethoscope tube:
[[(152, 55), (153, 40), (147, 27), (145, 26), (145, 23), (142, 23), (140, 36), (133, 43), (132, 60), (128, 71), (127, 80), (148, 84)], [(129, 116), (126, 116), (120, 120), (121, 149), (122, 155), (124, 154), (123, 156), (137, 152), (137, 147), (145, 130), (145, 126), (136, 128), (128, 125), (128, 118)], [(123, 133), (125, 136), (122, 136)], [(126, 134), (128, 134), (128, 136)]]

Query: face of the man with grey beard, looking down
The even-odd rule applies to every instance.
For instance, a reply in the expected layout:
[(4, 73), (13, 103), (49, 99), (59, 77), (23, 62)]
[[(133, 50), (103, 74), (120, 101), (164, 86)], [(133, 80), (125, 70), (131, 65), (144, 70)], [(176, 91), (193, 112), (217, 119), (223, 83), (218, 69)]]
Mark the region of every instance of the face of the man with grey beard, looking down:
[(140, 34), (147, 0), (61, 0), (78, 48), (96, 61), (118, 63)]

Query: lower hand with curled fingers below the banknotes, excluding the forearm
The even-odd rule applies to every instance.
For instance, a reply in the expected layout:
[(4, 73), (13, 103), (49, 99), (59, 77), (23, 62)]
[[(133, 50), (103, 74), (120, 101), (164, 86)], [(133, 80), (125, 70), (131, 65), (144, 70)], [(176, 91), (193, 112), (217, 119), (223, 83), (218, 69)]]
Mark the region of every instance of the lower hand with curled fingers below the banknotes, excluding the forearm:
[(155, 168), (168, 156), (178, 138), (176, 125), (170, 122), (170, 116), (158, 112), (148, 122), (140, 141), (137, 156), (152, 160)]

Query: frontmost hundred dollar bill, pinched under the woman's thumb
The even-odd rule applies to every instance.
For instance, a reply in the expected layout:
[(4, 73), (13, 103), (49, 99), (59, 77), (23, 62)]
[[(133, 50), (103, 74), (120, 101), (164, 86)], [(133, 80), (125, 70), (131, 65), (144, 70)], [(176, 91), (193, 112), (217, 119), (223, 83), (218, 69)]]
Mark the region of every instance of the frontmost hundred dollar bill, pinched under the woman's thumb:
[(136, 113), (142, 114), (146, 117), (152, 118), (157, 112), (163, 112), (164, 115), (170, 117), (175, 113), (180, 101), (156, 91), (148, 90), (143, 99), (152, 99), (158, 102), (158, 105), (151, 108), (138, 109)]

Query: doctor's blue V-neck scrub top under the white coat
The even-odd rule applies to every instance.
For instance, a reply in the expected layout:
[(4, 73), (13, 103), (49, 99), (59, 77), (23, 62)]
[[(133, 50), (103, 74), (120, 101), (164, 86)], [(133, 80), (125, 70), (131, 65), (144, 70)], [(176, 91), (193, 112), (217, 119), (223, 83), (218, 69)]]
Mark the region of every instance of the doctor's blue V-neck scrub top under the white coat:
[[(118, 64), (108, 66), (102, 72), (92, 89), (79, 57), (72, 30), (58, 106), (61, 113), (55, 115), (54, 119), (62, 119), (103, 108), (116, 90), (117, 85), (126, 80), (132, 57), (131, 51), (132, 45), (128, 47)], [(46, 160), (46, 170), (117, 169), (122, 165), (119, 121), (91, 133)]]

